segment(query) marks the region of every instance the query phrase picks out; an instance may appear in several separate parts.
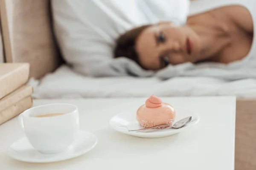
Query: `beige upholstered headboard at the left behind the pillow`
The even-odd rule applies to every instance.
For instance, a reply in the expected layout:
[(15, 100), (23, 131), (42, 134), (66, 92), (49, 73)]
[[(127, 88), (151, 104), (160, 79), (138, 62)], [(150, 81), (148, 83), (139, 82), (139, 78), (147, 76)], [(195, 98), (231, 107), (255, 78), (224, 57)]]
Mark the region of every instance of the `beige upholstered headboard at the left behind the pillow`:
[(6, 62), (29, 62), (41, 78), (61, 62), (51, 26), (50, 0), (0, 0)]

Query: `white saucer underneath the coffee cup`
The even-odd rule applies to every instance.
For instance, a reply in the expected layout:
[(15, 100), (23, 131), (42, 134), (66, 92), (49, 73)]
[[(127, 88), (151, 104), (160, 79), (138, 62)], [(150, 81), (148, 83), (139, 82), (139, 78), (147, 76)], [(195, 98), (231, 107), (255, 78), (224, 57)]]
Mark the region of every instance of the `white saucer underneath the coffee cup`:
[(89, 152), (97, 144), (97, 137), (89, 132), (80, 131), (78, 139), (65, 151), (43, 154), (35, 150), (26, 137), (14, 142), (8, 150), (13, 159), (25, 162), (54, 162), (75, 158)]

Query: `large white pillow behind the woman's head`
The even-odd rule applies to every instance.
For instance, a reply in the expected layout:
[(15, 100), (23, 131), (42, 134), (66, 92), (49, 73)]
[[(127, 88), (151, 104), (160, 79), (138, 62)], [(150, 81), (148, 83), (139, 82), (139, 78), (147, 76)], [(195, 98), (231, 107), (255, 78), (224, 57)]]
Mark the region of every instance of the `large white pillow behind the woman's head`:
[(52, 0), (54, 30), (63, 58), (87, 76), (129, 74), (113, 59), (119, 34), (160, 20), (184, 24), (188, 12), (189, 0)]

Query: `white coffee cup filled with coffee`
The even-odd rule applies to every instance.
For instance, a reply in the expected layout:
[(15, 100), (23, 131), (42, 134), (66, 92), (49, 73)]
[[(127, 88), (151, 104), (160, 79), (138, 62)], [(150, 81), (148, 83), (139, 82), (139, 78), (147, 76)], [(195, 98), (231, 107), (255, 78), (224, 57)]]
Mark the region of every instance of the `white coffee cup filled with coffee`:
[[(36, 117), (52, 113), (63, 114)], [(60, 153), (79, 134), (79, 113), (75, 105), (60, 103), (29, 108), (19, 115), (19, 121), (30, 144), (41, 153)]]

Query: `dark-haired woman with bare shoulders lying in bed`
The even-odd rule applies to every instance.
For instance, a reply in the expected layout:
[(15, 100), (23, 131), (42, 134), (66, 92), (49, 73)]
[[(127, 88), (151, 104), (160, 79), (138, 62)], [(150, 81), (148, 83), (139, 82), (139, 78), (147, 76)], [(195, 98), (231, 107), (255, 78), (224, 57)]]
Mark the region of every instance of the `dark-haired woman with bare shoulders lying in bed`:
[(212, 4), (210, 10), (189, 16), (186, 26), (160, 22), (125, 32), (116, 41), (115, 57), (128, 57), (148, 70), (184, 62), (230, 63), (248, 57), (256, 21), (256, 10), (250, 8), (256, 9), (256, 3), (223, 1), (225, 5), (214, 8)]

